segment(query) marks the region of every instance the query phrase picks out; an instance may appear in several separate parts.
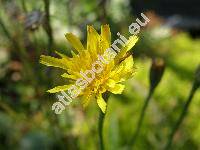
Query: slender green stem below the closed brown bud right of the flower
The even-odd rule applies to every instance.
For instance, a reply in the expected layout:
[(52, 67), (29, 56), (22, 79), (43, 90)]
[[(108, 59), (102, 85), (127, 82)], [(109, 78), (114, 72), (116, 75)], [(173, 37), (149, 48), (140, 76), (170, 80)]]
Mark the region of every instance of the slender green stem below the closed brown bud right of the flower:
[(140, 132), (140, 129), (142, 127), (142, 123), (143, 123), (143, 120), (144, 120), (144, 117), (145, 117), (145, 113), (146, 113), (146, 110), (147, 110), (147, 106), (149, 105), (149, 102), (150, 102), (150, 99), (153, 95), (153, 89), (150, 88), (149, 90), (149, 93), (148, 93), (148, 96), (144, 102), (144, 105), (142, 107), (142, 111), (141, 111), (141, 114), (140, 114), (140, 117), (139, 117), (139, 120), (138, 120), (138, 123), (137, 123), (137, 128), (136, 128), (136, 131), (131, 139), (131, 145), (133, 146), (135, 143), (136, 143), (136, 140), (137, 140), (137, 137), (139, 135), (139, 132)]

